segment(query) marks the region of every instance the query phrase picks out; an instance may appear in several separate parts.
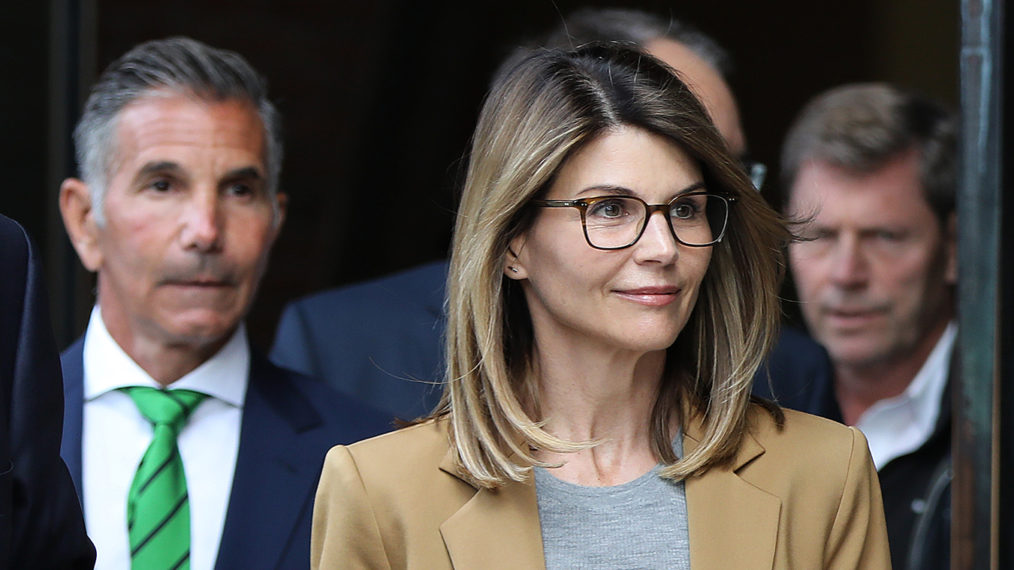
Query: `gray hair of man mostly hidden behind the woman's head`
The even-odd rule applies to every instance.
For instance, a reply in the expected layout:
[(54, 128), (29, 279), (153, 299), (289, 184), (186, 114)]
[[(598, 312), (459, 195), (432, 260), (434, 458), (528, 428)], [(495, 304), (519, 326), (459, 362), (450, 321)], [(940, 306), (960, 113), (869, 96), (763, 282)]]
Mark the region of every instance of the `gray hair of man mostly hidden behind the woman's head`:
[(729, 54), (710, 35), (675, 18), (641, 10), (581, 8), (571, 13), (542, 44), (547, 48), (574, 49), (592, 42), (628, 42), (642, 49), (653, 40), (672, 40), (685, 46), (724, 79), (732, 71)]

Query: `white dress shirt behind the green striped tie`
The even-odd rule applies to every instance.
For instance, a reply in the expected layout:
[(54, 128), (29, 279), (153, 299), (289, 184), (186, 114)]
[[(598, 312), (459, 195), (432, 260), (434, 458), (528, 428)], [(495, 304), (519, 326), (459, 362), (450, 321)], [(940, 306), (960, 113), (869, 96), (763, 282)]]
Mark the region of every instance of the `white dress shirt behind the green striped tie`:
[[(96, 569), (129, 570), (127, 495), (141, 456), (151, 443), (151, 424), (134, 401), (117, 388), (160, 387), (110, 336), (96, 306), (84, 337), (82, 488)], [(191, 568), (210, 570), (232, 489), (239, 427), (249, 372), (242, 325), (210, 360), (171, 388), (209, 395), (191, 415), (177, 440), (187, 474), (191, 510)]]

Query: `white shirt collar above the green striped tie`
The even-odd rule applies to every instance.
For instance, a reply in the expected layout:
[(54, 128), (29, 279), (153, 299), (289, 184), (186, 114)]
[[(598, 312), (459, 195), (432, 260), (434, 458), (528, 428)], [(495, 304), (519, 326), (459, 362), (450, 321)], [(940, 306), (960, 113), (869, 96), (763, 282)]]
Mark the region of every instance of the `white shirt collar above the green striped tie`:
[[(113, 339), (98, 305), (91, 309), (82, 357), (85, 401), (126, 386), (161, 387)], [(225, 346), (200, 366), (172, 382), (171, 387), (197, 390), (242, 408), (246, 397), (249, 361), (246, 328), (240, 323)]]

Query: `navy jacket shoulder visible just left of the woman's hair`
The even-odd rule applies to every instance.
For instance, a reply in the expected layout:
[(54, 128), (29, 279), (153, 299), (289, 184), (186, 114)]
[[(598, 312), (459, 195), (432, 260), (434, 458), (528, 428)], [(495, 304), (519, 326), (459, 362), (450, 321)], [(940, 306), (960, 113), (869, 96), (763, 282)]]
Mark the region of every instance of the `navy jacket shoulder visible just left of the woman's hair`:
[(285, 307), (271, 359), (392, 417), (440, 400), (447, 262), (316, 293)]

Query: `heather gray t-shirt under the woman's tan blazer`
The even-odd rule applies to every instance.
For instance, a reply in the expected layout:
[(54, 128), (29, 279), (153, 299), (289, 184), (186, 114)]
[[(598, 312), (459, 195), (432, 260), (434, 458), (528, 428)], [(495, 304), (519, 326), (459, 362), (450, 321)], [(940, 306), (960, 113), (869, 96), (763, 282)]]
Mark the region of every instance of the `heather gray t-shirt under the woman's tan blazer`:
[(536, 468), (547, 570), (689, 569), (686, 493), (682, 482), (659, 477), (660, 469), (614, 487), (584, 487)]

